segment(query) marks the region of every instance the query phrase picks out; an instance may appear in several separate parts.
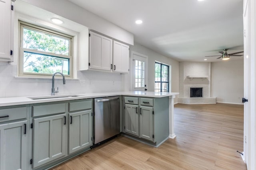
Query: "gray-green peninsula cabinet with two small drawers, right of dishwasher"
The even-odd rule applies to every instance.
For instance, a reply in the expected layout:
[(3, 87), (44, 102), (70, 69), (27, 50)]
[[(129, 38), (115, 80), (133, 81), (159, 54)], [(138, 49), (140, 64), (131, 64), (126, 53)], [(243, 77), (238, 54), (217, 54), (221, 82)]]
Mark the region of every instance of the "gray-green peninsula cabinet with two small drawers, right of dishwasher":
[[(160, 146), (169, 137), (169, 98), (124, 96), (122, 131), (130, 137)], [(138, 109), (137, 109), (138, 108)], [(146, 140), (144, 140), (146, 139)]]

